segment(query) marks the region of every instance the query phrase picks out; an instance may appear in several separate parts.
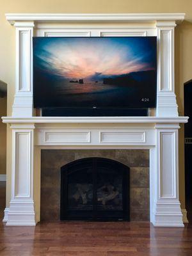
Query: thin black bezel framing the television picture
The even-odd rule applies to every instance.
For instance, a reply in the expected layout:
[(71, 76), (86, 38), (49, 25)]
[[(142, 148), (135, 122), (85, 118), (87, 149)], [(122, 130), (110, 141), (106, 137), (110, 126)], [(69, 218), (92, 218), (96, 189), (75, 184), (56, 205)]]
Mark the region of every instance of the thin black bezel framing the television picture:
[[(155, 71), (156, 71), (156, 79), (157, 79), (157, 36), (108, 36), (107, 38), (155, 38), (156, 39), (156, 69), (155, 69)], [(34, 38), (45, 38), (45, 40), (47, 40), (48, 38), (86, 38), (86, 39), (88, 39), (88, 38), (106, 38), (106, 37), (102, 37), (102, 36), (49, 36), (49, 37), (45, 37), (45, 36), (33, 36), (33, 39)], [(34, 51), (33, 51), (33, 60), (34, 60)], [(34, 71), (34, 61), (33, 61), (33, 71)], [(34, 72), (33, 72), (33, 78), (34, 78)], [(57, 109), (60, 109), (60, 108), (65, 108), (65, 109), (68, 109), (68, 108), (73, 108), (73, 107), (70, 107), (70, 106), (66, 106), (66, 107), (63, 107), (63, 106), (60, 106), (60, 107), (57, 107), (57, 106), (36, 106), (36, 104), (35, 104), (35, 97), (34, 97), (34, 95), (35, 95), (35, 84), (34, 84), (34, 79), (33, 79), (33, 106), (34, 106), (34, 108), (36, 108), (36, 109), (44, 109), (44, 112), (47, 112), (47, 111), (49, 111), (50, 109), (55, 109), (55, 111), (57, 111)], [(104, 107), (104, 106), (95, 106), (95, 107), (90, 107), (90, 106), (87, 106), (87, 107), (81, 107), (81, 106), (78, 106), (78, 107), (74, 107), (74, 108), (78, 108), (78, 109), (82, 109), (82, 110), (84, 110), (84, 108), (86, 108), (86, 109), (95, 109), (95, 112), (97, 111), (97, 109), (102, 109), (103, 111), (104, 110), (106, 110), (106, 111), (108, 111), (109, 109), (111, 110), (111, 111), (117, 111), (117, 113), (119, 113), (119, 115), (120, 115), (120, 112), (121, 112), (121, 109), (123, 110), (123, 109), (127, 109), (127, 112), (129, 112), (129, 113), (131, 113), (130, 112), (130, 110), (132, 110), (132, 109), (148, 109), (148, 108), (156, 108), (156, 104), (157, 104), (157, 81), (156, 81), (156, 97), (154, 98), (154, 104), (153, 105), (150, 105), (150, 104), (146, 104), (147, 106), (145, 106), (145, 108), (144, 108), (144, 106), (143, 106), (143, 108), (141, 108), (141, 107), (133, 107), (133, 108), (130, 108), (130, 107), (118, 107), (118, 108), (115, 108), (114, 106), (108, 106), (108, 107)], [(147, 115), (147, 113), (148, 113), (148, 110), (146, 110), (146, 111), (143, 111), (143, 115)], [(43, 111), (42, 111), (43, 112)], [(134, 112), (134, 111), (133, 111)], [(84, 116), (84, 115), (83, 115)], [(93, 115), (93, 116), (95, 116), (95, 114)], [(133, 115), (131, 115), (131, 116), (133, 116)]]

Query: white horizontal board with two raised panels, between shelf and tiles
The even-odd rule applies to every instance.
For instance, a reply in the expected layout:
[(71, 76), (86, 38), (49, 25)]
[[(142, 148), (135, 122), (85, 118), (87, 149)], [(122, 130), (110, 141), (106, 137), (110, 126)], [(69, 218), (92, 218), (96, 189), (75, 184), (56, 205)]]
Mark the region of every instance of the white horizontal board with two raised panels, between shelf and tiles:
[[(108, 125), (110, 127), (110, 125)], [(60, 128), (58, 128), (60, 127)], [(153, 146), (156, 144), (154, 140), (155, 130), (150, 127), (148, 129), (140, 129), (140, 125), (134, 125), (134, 129), (97, 129), (97, 127), (87, 129), (75, 129), (70, 130), (63, 125), (58, 127), (49, 128), (36, 127), (35, 132), (35, 145), (36, 146), (65, 146), (65, 145), (89, 145), (97, 146), (101, 145), (141, 145)], [(62, 128), (63, 127), (63, 128)]]

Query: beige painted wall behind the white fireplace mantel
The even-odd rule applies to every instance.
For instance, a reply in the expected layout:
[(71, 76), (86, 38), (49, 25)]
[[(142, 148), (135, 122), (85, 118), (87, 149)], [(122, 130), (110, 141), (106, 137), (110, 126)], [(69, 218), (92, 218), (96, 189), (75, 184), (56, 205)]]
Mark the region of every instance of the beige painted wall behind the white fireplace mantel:
[[(8, 84), (8, 115), (12, 113), (15, 86), (15, 28), (4, 13), (168, 13), (184, 12), (186, 20), (175, 33), (175, 91), (180, 115), (184, 112), (183, 84), (192, 78), (192, 1), (191, 0), (1, 0), (0, 78)], [(10, 202), (11, 132), (7, 131), (7, 206)], [(184, 204), (184, 129), (179, 132), (180, 201)]]

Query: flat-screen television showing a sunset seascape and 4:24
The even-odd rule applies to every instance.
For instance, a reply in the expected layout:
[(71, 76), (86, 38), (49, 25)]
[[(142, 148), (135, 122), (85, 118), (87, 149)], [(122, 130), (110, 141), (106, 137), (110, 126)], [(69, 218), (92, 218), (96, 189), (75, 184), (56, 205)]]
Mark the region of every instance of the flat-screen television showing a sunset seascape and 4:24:
[(35, 108), (155, 108), (156, 36), (34, 37)]

